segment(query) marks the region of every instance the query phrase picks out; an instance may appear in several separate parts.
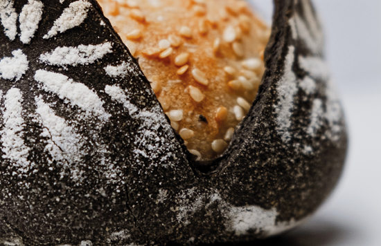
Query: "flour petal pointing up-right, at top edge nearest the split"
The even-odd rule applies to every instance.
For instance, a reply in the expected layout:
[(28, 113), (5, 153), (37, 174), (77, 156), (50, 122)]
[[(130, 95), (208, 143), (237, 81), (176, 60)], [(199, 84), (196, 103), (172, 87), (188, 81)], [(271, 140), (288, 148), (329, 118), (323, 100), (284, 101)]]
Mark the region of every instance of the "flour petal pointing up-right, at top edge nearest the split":
[(62, 15), (54, 21), (54, 25), (48, 34), (44, 36), (44, 39), (49, 39), (58, 34), (58, 32), (65, 32), (85, 21), (87, 18), (87, 12), (91, 7), (91, 3), (86, 0), (78, 0), (70, 3), (69, 8), (64, 9)]

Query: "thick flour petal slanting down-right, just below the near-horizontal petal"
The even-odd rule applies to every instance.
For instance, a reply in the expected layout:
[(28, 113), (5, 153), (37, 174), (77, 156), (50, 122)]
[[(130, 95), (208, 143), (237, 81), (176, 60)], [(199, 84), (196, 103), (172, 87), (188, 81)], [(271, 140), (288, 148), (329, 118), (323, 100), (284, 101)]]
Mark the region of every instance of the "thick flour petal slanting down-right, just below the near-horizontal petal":
[(37, 70), (35, 80), (42, 83), (44, 90), (55, 93), (62, 100), (80, 107), (87, 113), (95, 113), (101, 120), (108, 120), (110, 115), (103, 108), (103, 101), (85, 84), (73, 82), (73, 79), (60, 73)]

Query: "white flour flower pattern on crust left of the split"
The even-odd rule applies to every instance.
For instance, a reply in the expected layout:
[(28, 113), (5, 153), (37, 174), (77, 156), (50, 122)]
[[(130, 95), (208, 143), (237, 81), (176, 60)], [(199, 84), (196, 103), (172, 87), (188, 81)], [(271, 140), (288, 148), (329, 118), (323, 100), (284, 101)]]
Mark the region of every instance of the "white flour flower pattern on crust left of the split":
[[(58, 1), (58, 0), (57, 0)], [(60, 0), (61, 3), (64, 1)], [(13, 8), (14, 1), (0, 1), (0, 19), (4, 27), (5, 35), (14, 41), (19, 37), (23, 44), (30, 44), (35, 37), (42, 19), (44, 4), (42, 1), (28, 0), (20, 14)], [(44, 38), (53, 37), (71, 28), (79, 26), (86, 18), (91, 3), (86, 0), (74, 1), (69, 8), (63, 10), (62, 15), (56, 19), (53, 26)], [(19, 33), (17, 32), (17, 18), (19, 19)], [(80, 45), (76, 47), (57, 47), (51, 52), (40, 55), (39, 63), (44, 62), (49, 66), (60, 66), (66, 69), (67, 66), (78, 66), (94, 64), (105, 55), (112, 53), (112, 43), (105, 41), (103, 44)], [(45, 151), (51, 155), (64, 169), (70, 169), (71, 178), (79, 180), (82, 175), (82, 158), (87, 155), (88, 149), (84, 149), (85, 136), (78, 133), (74, 127), (78, 125), (77, 120), (81, 120), (85, 115), (85, 120), (92, 120), (96, 127), (101, 127), (111, 116), (103, 107), (103, 100), (97, 92), (87, 87), (81, 82), (74, 82), (73, 79), (60, 73), (53, 73), (40, 69), (34, 72), (34, 79), (48, 95), (56, 95), (64, 100), (68, 106), (79, 108), (75, 122), (66, 120), (57, 115), (53, 109), (54, 104), (45, 102), (39, 96), (33, 98), (35, 102), (35, 113), (26, 113), (24, 107), (24, 91), (17, 88), (19, 81), (28, 72), (30, 61), (24, 54), (23, 49), (12, 51), (12, 57), (0, 59), (0, 79), (11, 81), (14, 86), (8, 91), (0, 92), (0, 101), (3, 102), (3, 128), (1, 134), (1, 150), (4, 160), (10, 162), (10, 167), (17, 168), (17, 175), (27, 175), (35, 164), (28, 160), (30, 156), (30, 146), (26, 142), (26, 116), (33, 120), (33, 124), (42, 127), (40, 137), (44, 139)], [(33, 101), (28, 101), (32, 102)], [(91, 130), (90, 130), (91, 131)], [(96, 129), (92, 137), (97, 138)], [(105, 166), (104, 176), (110, 180), (116, 180), (118, 169), (107, 156), (109, 151), (104, 143), (97, 143), (98, 162), (100, 166)]]

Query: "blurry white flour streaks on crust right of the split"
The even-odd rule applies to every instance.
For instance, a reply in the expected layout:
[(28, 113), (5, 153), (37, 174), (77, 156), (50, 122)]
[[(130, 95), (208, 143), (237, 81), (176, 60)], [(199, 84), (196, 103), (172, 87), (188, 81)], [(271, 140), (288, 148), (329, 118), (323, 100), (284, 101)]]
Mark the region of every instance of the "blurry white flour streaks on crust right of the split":
[[(303, 0), (305, 1), (305, 0)], [(321, 51), (324, 43), (324, 38), (317, 21), (314, 19), (314, 14), (308, 2), (302, 4), (305, 14), (305, 20), (299, 14), (290, 18), (289, 24), (291, 27), (292, 38), (300, 39), (312, 53), (311, 56), (297, 57), (299, 68), (306, 73), (303, 79), (296, 77), (292, 68), (295, 62), (295, 48), (289, 47), (287, 57), (285, 59), (285, 72), (281, 80), (278, 82), (279, 102), (275, 105), (276, 123), (278, 134), (281, 135), (283, 142), (290, 142), (292, 136), (289, 132), (292, 126), (292, 115), (296, 109), (294, 97), (299, 90), (304, 91), (308, 97), (314, 97), (317, 93), (317, 83), (329, 82), (330, 72), (324, 59), (322, 59)], [(342, 118), (341, 107), (335, 92), (332, 88), (332, 83), (329, 82), (326, 86), (327, 100), (316, 98), (312, 100), (312, 108), (310, 113), (310, 124), (304, 130), (305, 133), (314, 138), (317, 131), (324, 126), (324, 120), (330, 124), (330, 129), (325, 133), (331, 140), (339, 140), (339, 120)], [(305, 153), (313, 151), (311, 146), (302, 146)]]

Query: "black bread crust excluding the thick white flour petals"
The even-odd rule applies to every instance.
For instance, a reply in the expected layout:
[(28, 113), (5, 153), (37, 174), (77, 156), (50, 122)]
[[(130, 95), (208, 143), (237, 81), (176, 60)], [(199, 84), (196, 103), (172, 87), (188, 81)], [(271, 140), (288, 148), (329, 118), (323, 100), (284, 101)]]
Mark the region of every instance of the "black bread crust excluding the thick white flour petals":
[[(18, 173), (12, 161), (0, 157), (0, 243), (17, 238), (24, 245), (79, 245), (86, 240), (93, 245), (251, 240), (267, 236), (269, 229), (253, 225), (241, 234), (231, 229), (231, 220), (238, 215), (231, 216), (234, 208), (274, 209), (279, 226), (290, 221), (292, 225), (292, 221), (310, 216), (326, 199), (342, 171), (347, 138), (344, 117), (339, 102), (331, 95), (326, 71), (318, 71), (319, 75), (313, 66), (308, 70), (301, 61), (313, 57), (324, 63), (319, 21), (310, 1), (275, 1), (272, 37), (265, 53), (267, 70), (260, 91), (236, 129), (229, 150), (211, 163), (194, 161), (170, 128), (138, 62), (98, 3), (88, 1), (91, 8), (80, 26), (50, 39), (43, 37), (75, 1), (42, 1), (42, 21), (28, 45), (19, 39), (10, 41), (0, 32), (1, 57), (12, 57), (12, 51), (19, 48), (28, 57), (26, 74), (17, 82), (0, 77), (0, 89), (6, 95), (10, 88), (18, 88), (23, 95), (23, 139), (30, 148), (28, 161), (35, 164), (27, 173)], [(21, 12), (26, 3), (16, 0), (16, 12)], [(299, 19), (293, 22), (293, 18)], [(303, 25), (310, 36), (306, 36)], [(306, 37), (312, 37), (312, 44)], [(39, 61), (42, 53), (58, 46), (105, 41), (112, 42), (112, 53), (85, 66), (67, 66), (66, 70)], [(290, 52), (292, 49), (294, 52)], [(290, 56), (294, 59), (287, 63)], [(124, 77), (105, 73), (105, 66), (118, 66), (123, 61), (131, 68)], [(78, 120), (78, 115), (85, 115), (82, 108), (44, 90), (35, 81), (36, 70), (61, 73), (85, 84), (105, 102), (103, 106), (111, 117), (105, 122), (94, 115)], [(305, 77), (315, 85), (309, 93), (301, 86)], [(287, 91), (279, 89), (282, 83), (285, 88), (296, 88), (291, 100), (285, 100)], [(137, 117), (113, 100), (105, 86), (119, 86), (139, 112), (150, 112), (157, 118), (147, 122)], [(40, 95), (55, 115), (67, 120), (85, 139), (85, 155), (69, 168), (46, 151), (48, 137), (42, 136), (46, 127), (35, 113), (35, 97)], [(284, 108), (288, 105), (284, 102), (289, 102), (290, 108)], [(318, 117), (312, 113), (315, 102), (321, 102)], [(287, 122), (282, 122), (279, 115), (287, 110), (292, 113)], [(1, 115), (3, 111), (4, 99)], [(3, 121), (2, 117), (4, 128)], [(312, 123), (318, 127), (311, 128)], [(289, 126), (288, 135), (282, 126)], [(140, 127), (153, 137), (145, 138)], [(102, 146), (107, 146), (105, 155), (100, 154)], [(80, 179), (73, 178), (78, 170)], [(272, 225), (272, 229), (278, 225)]]

